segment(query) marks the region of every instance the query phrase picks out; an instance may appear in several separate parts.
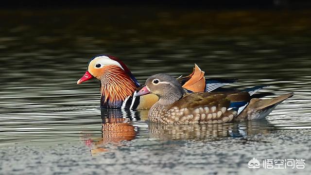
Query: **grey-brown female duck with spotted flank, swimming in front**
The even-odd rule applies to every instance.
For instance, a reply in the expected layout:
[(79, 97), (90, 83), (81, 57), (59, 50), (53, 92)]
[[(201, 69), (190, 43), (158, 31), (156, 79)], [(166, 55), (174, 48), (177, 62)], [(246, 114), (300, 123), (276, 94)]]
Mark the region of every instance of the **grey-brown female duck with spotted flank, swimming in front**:
[[(134, 96), (143, 96), (149, 93), (157, 95), (159, 100), (150, 108), (148, 119), (152, 122), (165, 124), (227, 123), (237, 118), (251, 101), (251, 96), (247, 91), (186, 94), (180, 83), (167, 74), (156, 74), (149, 77), (145, 87), (141, 88)], [(247, 110), (244, 118), (240, 118), (244, 120), (251, 120), (252, 117), (258, 119), (260, 110), (271, 109), (271, 107), (273, 109), (292, 95), (291, 93), (280, 96), (278, 99), (268, 99), (268, 103), (264, 100), (253, 100), (250, 106), (253, 106), (254, 109), (259, 107), (259, 110), (250, 110), (250, 112)], [(257, 101), (260, 103), (256, 103)]]

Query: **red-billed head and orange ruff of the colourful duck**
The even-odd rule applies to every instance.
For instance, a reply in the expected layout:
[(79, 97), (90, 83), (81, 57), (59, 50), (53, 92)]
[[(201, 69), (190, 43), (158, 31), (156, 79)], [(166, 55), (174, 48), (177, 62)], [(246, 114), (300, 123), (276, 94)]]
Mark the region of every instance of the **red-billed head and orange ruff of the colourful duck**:
[(117, 57), (97, 55), (91, 58), (86, 73), (77, 81), (81, 84), (97, 78), (101, 82), (101, 93), (104, 101), (122, 101), (131, 95), (139, 86), (131, 71)]

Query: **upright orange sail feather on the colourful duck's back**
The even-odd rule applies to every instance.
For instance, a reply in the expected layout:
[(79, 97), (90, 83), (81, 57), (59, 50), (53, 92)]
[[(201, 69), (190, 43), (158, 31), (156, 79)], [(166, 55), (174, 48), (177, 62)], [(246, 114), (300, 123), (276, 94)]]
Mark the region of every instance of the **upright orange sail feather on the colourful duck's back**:
[(192, 73), (187, 76), (190, 79), (182, 86), (191, 92), (204, 92), (205, 90), (205, 77), (204, 71), (202, 71), (198, 65), (194, 64)]

